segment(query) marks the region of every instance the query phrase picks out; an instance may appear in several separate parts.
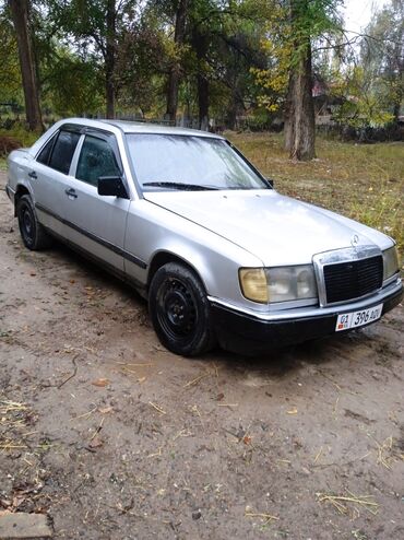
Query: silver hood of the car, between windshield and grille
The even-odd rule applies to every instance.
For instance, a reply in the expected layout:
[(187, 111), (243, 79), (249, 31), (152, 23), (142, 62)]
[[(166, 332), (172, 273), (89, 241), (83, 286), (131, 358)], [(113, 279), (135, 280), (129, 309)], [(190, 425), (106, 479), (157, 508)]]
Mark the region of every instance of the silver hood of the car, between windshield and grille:
[(153, 191), (144, 198), (212, 231), (260, 258), (264, 266), (310, 263), (322, 251), (376, 244), (382, 233), (275, 190)]

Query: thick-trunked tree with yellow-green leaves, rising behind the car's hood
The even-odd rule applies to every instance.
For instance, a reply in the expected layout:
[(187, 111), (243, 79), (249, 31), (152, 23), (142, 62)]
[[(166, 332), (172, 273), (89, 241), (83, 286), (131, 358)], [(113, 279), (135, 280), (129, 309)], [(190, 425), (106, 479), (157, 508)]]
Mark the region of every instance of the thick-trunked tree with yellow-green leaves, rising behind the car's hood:
[[(285, 148), (294, 160), (311, 160), (314, 149), (312, 45), (341, 30), (341, 0), (285, 0), (272, 3), (268, 19), (266, 70), (256, 71), (262, 102), (284, 106)], [(270, 10), (271, 11), (271, 7)], [(286, 86), (286, 91), (285, 91)]]

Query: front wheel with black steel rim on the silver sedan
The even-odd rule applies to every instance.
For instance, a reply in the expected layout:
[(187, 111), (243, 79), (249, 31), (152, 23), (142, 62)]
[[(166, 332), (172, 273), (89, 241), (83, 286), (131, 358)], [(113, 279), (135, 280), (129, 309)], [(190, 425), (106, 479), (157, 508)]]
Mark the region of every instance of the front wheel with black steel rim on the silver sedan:
[(185, 265), (168, 262), (156, 271), (148, 308), (155, 332), (169, 351), (197, 356), (215, 345), (204, 287)]

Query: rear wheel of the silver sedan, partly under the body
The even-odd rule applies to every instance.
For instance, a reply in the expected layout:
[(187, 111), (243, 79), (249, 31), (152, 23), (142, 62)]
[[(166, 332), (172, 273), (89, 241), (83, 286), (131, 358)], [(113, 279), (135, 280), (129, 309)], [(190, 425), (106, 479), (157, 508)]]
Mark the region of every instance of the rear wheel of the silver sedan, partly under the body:
[(52, 238), (38, 222), (34, 203), (28, 195), (23, 195), (17, 200), (16, 216), (25, 247), (36, 251), (51, 245)]

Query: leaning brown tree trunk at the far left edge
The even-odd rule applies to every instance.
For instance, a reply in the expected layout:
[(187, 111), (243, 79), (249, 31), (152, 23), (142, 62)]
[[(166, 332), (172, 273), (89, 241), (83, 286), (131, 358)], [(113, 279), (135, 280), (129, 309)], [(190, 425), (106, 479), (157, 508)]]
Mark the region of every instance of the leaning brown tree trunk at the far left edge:
[(10, 8), (19, 46), (26, 122), (31, 131), (43, 131), (35, 57), (28, 26), (28, 0), (10, 0)]

